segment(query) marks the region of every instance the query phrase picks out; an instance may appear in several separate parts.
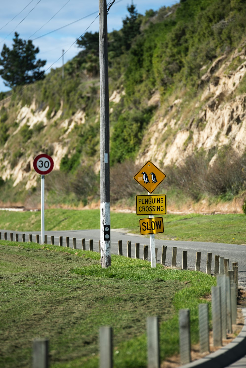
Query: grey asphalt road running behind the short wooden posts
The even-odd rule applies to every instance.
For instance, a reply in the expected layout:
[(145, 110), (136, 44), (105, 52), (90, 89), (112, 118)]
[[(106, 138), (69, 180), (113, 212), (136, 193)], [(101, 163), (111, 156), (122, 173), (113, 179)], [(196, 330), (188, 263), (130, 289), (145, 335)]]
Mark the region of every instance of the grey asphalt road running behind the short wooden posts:
[[(7, 232), (7, 239), (10, 240), (10, 233), (15, 231), (0, 230), (2, 233)], [(19, 242), (21, 241), (22, 233), (19, 234)], [(39, 234), (41, 241), (41, 232), (25, 233), (25, 240), (28, 241), (29, 234)], [(98, 240), (100, 239), (100, 230), (70, 230), (70, 231), (46, 231), (48, 235), (48, 243), (50, 243), (50, 236), (55, 237), (55, 244), (59, 245), (59, 237), (63, 236), (63, 246), (66, 246), (66, 237), (70, 237), (70, 247), (73, 247), (73, 238), (76, 238), (77, 249), (82, 248), (81, 239), (85, 238), (86, 249), (89, 249), (89, 239), (93, 239), (94, 251), (98, 251)], [(135, 243), (140, 243), (140, 258), (143, 258), (143, 245), (150, 245), (149, 237), (127, 234), (119, 230), (111, 230), (111, 248), (113, 254), (118, 254), (118, 240), (122, 240), (123, 255), (126, 256), (127, 241), (131, 241), (131, 256), (135, 257)], [(33, 237), (35, 241), (35, 237)], [(171, 266), (172, 261), (172, 247), (177, 247), (177, 267), (182, 266), (182, 252), (187, 250), (187, 269), (195, 268), (196, 252), (201, 252), (201, 271), (205, 272), (207, 262), (207, 252), (212, 253), (212, 273), (214, 271), (214, 256), (218, 254), (221, 257), (229, 258), (230, 269), (232, 269), (232, 262), (238, 262), (239, 266), (239, 289), (246, 290), (246, 245), (223, 244), (223, 243), (208, 243), (199, 241), (174, 241), (174, 240), (155, 240), (155, 247), (158, 248), (157, 262), (161, 262), (162, 245), (167, 246), (166, 251), (166, 265)], [(150, 247), (148, 247), (148, 259), (150, 261)]]

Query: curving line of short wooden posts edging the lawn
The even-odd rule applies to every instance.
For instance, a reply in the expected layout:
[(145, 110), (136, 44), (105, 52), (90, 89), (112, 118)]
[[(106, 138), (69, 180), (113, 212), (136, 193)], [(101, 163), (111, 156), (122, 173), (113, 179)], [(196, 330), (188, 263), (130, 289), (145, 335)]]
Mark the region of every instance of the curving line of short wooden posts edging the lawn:
[[(1, 232), (0, 232), (1, 239)], [(7, 232), (4, 232), (4, 240), (7, 240)], [(10, 240), (13, 241), (13, 233), (10, 233)], [(32, 242), (32, 234), (29, 234), (29, 242)], [(18, 233), (15, 234), (15, 241), (19, 241)], [(25, 234), (22, 234), (22, 242), (25, 241)], [(55, 244), (55, 237), (51, 236), (51, 244)], [(82, 250), (85, 250), (85, 238), (82, 240)], [(39, 243), (39, 235), (36, 234), (36, 243)], [(45, 235), (45, 244), (48, 244), (48, 237)], [(63, 237), (59, 237), (59, 245), (63, 246)], [(66, 247), (70, 246), (70, 238), (66, 237)], [(73, 238), (73, 249), (77, 249), (77, 240)], [(161, 264), (166, 262), (167, 246), (162, 246)], [(93, 239), (89, 240), (89, 250), (93, 251)], [(139, 258), (140, 244), (135, 244), (135, 258)], [(98, 251), (101, 251), (100, 240)], [(122, 240), (118, 241), (118, 254), (123, 255)], [(157, 257), (157, 248), (155, 250)], [(176, 267), (177, 248), (172, 248), (172, 267)], [(127, 257), (131, 257), (131, 241), (127, 241)], [(144, 245), (143, 259), (148, 260), (148, 245)], [(200, 271), (201, 252), (196, 252), (195, 270)], [(206, 273), (211, 275), (212, 253), (207, 253)], [(182, 269), (187, 269), (187, 251), (183, 251)], [(224, 259), (215, 255), (214, 276), (217, 277), (217, 286), (211, 288), (212, 297), (212, 327), (213, 344), (222, 346), (222, 339), (226, 339), (226, 333), (232, 333), (232, 326), (236, 324), (237, 318), (237, 295), (238, 295), (238, 262), (232, 262), (232, 270), (229, 269), (229, 259)], [(200, 326), (200, 351), (209, 352), (209, 318), (208, 304), (198, 305), (199, 326)], [(179, 311), (179, 343), (180, 343), (180, 363), (186, 364), (191, 361), (190, 345), (190, 311), (180, 309)], [(112, 328), (101, 327), (99, 330), (99, 356), (100, 368), (112, 368), (113, 347)], [(158, 317), (147, 318), (147, 350), (148, 367), (159, 368), (159, 322)], [(48, 368), (48, 340), (36, 339), (33, 344), (33, 368)]]

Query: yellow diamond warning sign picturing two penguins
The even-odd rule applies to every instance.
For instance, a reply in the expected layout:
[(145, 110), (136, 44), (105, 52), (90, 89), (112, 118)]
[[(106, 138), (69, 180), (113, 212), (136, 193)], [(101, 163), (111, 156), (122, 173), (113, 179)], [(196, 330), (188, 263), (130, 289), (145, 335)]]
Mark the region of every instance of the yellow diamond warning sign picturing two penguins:
[(166, 175), (158, 167), (148, 161), (133, 178), (149, 193), (152, 193), (165, 177)]

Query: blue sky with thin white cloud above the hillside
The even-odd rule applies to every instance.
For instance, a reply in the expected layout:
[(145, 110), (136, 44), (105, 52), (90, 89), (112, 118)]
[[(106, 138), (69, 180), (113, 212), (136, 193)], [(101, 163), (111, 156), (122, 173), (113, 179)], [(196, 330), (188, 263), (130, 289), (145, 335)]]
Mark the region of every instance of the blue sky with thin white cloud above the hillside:
[[(108, 2), (110, 1), (111, 0)], [(28, 39), (34, 32), (38, 31), (39, 28), (49, 21), (49, 19), (53, 17), (53, 15), (55, 15), (57, 11), (59, 11), (67, 2), (68, 0), (2, 1), (0, 12), (0, 28), (3, 28), (0, 30), (0, 52), (3, 49), (4, 43), (11, 48), (14, 32), (18, 32), (20, 34), (20, 38), (25, 40)], [(158, 10), (162, 6), (171, 6), (177, 2), (178, 0), (134, 0), (137, 11), (141, 14), (145, 14), (146, 10)], [(116, 2), (110, 8), (108, 15), (109, 32), (113, 29), (118, 30), (122, 28), (122, 20), (128, 13), (127, 5), (130, 3), (131, 0), (116, 0)], [(32, 10), (32, 8), (34, 9)], [(22, 9), (24, 10), (17, 15)], [(31, 13), (28, 14), (30, 11)], [(93, 14), (84, 20), (75, 22), (74, 24), (63, 28), (60, 31), (51, 33), (50, 35), (38, 38), (36, 40), (34, 39), (45, 35), (54, 29), (77, 21), (78, 19), (94, 12), (98, 12), (98, 0), (70, 0), (52, 20), (50, 20), (45, 26), (43, 26), (42, 29), (40, 29), (31, 37), (34, 45), (39, 47), (39, 54), (37, 57), (42, 60), (47, 60), (45, 69), (48, 69), (61, 56), (62, 49), (66, 51), (76, 41), (76, 39), (82, 35), (91, 22), (96, 18), (97, 14)], [(17, 17), (15, 17), (16, 15)], [(9, 22), (12, 18), (14, 18), (14, 20)], [(25, 19), (23, 20), (23, 18)], [(7, 24), (7, 22), (9, 23)], [(17, 28), (14, 29), (15, 27)], [(89, 27), (88, 32), (96, 32), (98, 29), (99, 18), (97, 18)], [(9, 33), (10, 35), (8, 36)], [(4, 40), (4, 38), (6, 39)], [(76, 43), (71, 46), (71, 48), (64, 55), (65, 63), (66, 61), (72, 59), (79, 51), (80, 49), (78, 49)], [(60, 58), (60, 60), (58, 60), (52, 66), (52, 68), (60, 67), (61, 63), (62, 59)], [(49, 70), (47, 73), (48, 72)], [(3, 79), (0, 77), (0, 91), (7, 90), (8, 88), (4, 85)]]

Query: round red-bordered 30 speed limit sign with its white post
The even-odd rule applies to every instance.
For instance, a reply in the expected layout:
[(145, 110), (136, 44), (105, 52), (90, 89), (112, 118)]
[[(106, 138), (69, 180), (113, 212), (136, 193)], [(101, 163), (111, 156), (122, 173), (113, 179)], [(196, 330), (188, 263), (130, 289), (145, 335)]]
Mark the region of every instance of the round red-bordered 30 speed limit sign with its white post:
[(41, 153), (35, 157), (33, 162), (34, 170), (41, 174), (41, 244), (45, 241), (45, 175), (49, 174), (54, 167), (53, 159)]

